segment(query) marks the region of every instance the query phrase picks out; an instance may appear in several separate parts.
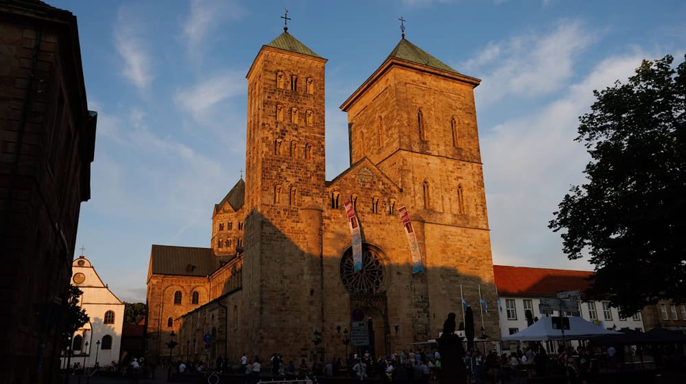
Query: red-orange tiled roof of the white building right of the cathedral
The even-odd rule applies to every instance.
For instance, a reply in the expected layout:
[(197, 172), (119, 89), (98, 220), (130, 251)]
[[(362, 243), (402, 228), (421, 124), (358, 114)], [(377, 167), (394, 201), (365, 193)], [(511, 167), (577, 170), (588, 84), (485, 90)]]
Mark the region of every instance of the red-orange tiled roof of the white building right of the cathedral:
[(579, 289), (582, 294), (591, 286), (586, 280), (593, 272), (493, 265), (499, 296), (554, 297), (562, 291)]

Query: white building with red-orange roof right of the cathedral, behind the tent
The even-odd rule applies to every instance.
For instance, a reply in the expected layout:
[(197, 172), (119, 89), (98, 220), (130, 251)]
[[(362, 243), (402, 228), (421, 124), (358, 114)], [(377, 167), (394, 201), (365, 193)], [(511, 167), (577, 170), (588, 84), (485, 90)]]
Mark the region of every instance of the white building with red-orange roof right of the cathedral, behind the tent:
[[(559, 316), (560, 311), (541, 311), (541, 298), (556, 298), (558, 292), (565, 291), (578, 290), (583, 293), (589, 288), (587, 278), (592, 272), (493, 265), (493, 274), (499, 295), (500, 335), (504, 336), (523, 331), (530, 322), (543, 316)], [(583, 296), (576, 304), (577, 313), (565, 315), (578, 315), (602, 328), (612, 330), (630, 328), (645, 332), (650, 329), (646, 329), (643, 322), (645, 311), (631, 317), (620, 317), (609, 301), (585, 300)], [(527, 311), (530, 311), (530, 316)], [(556, 352), (557, 342), (548, 341), (546, 348), (548, 352)]]

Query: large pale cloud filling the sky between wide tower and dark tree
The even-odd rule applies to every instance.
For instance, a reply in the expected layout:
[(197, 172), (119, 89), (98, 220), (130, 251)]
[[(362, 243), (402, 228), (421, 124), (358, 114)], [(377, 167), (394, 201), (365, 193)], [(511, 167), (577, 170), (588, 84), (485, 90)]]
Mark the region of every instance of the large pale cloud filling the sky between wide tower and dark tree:
[(635, 52), (606, 58), (567, 86), (565, 96), (531, 115), (486, 128), (484, 173), (495, 263), (591, 269), (586, 261), (567, 261), (559, 234), (547, 223), (570, 184), (583, 182), (589, 157), (573, 139), (578, 117), (593, 103), (592, 91), (626, 80), (643, 57)]

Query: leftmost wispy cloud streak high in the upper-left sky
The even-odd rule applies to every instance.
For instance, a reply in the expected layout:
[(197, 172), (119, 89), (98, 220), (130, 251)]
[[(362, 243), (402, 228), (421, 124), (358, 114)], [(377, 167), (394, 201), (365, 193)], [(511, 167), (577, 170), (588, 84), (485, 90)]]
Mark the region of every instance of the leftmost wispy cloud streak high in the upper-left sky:
[(121, 74), (141, 91), (153, 78), (152, 60), (141, 38), (144, 34), (143, 23), (137, 23), (132, 12), (121, 8), (115, 29), (115, 46), (124, 60)]

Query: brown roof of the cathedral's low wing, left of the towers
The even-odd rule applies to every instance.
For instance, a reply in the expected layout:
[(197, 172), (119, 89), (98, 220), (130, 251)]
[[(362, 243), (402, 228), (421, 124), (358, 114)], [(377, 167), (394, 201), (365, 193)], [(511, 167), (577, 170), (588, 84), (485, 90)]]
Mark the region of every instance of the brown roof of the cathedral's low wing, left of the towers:
[(220, 265), (220, 258), (212, 248), (152, 245), (150, 269), (152, 274), (176, 276), (209, 276)]

